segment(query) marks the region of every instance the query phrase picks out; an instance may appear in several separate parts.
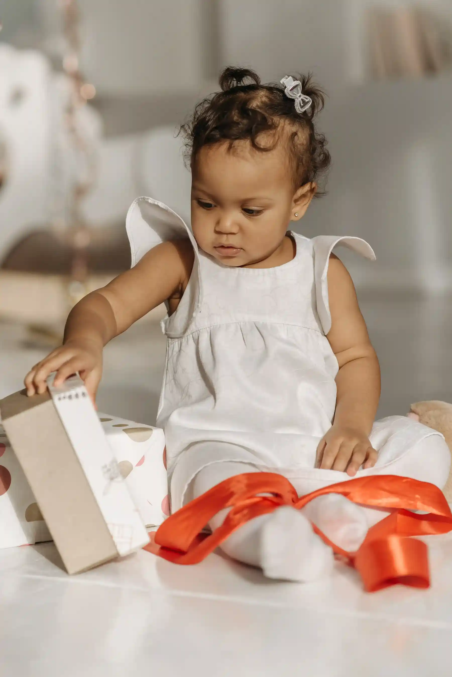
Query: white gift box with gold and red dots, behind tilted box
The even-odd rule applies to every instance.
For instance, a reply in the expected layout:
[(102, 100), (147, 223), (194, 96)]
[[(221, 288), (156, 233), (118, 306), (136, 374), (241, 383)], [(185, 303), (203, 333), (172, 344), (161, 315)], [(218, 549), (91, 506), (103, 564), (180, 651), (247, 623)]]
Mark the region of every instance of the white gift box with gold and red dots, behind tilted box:
[[(142, 522), (159, 526), (169, 514), (163, 431), (107, 414), (98, 416)], [(52, 536), (35, 495), (0, 424), (0, 548), (49, 540)]]

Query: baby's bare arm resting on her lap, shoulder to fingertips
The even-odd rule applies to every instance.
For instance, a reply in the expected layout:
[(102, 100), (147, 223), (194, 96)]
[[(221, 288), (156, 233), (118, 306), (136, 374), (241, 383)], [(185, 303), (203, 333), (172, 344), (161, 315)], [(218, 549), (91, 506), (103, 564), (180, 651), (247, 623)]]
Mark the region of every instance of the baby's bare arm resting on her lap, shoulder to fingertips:
[(340, 259), (331, 255), (328, 269), (331, 330), (327, 339), (339, 364), (333, 427), (319, 445), (321, 468), (355, 475), (370, 468), (377, 452), (369, 442), (380, 395), (380, 372), (354, 285)]

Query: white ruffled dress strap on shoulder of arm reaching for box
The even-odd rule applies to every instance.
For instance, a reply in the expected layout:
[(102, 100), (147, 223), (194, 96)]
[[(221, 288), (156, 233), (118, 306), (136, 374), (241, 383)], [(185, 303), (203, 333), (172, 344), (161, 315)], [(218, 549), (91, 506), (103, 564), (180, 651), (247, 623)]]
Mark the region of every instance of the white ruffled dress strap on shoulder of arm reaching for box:
[(132, 202), (127, 212), (125, 227), (130, 242), (131, 267), (157, 244), (184, 238), (190, 240), (194, 250), (192, 274), (178, 309), (170, 318), (163, 320), (162, 324), (167, 336), (182, 336), (201, 303), (199, 250), (190, 228), (169, 206), (146, 197), (136, 198)]

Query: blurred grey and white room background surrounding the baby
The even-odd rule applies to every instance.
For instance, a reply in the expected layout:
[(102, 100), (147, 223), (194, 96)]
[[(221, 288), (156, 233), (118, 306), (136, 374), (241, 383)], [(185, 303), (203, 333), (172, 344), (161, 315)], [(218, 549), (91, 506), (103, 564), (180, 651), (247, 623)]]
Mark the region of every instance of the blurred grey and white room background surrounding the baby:
[[(233, 64), (312, 71), (329, 95), (328, 195), (299, 228), (375, 249), (344, 261), (382, 363), (379, 415), (452, 401), (451, 0), (2, 0), (0, 21), (0, 397), (128, 267), (136, 196), (189, 218), (176, 131)], [(162, 314), (107, 347), (100, 410), (155, 422)]]

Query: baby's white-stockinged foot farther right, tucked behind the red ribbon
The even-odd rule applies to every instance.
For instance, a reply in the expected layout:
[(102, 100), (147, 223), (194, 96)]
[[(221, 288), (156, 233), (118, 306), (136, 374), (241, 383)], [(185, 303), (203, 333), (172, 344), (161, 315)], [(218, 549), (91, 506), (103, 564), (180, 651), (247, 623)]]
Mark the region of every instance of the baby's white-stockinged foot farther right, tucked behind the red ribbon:
[(302, 513), (343, 550), (354, 552), (367, 534), (365, 511), (341, 494), (317, 496)]

